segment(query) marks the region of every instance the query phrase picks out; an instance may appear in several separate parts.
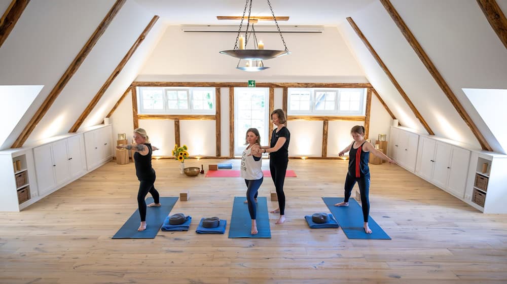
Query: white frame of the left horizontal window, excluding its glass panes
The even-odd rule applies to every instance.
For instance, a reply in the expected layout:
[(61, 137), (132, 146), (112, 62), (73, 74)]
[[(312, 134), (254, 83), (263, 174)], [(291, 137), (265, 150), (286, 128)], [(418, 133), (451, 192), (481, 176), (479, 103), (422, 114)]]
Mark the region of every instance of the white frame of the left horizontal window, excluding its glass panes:
[[(143, 89), (160, 89), (163, 92), (163, 110), (146, 110), (143, 105)], [(208, 91), (211, 94), (213, 109), (211, 110), (195, 110), (193, 95), (194, 91)], [(187, 110), (171, 110), (168, 108), (168, 91), (186, 91), (187, 92)], [(137, 105), (139, 114), (167, 114), (167, 115), (214, 115), (216, 113), (216, 93), (215, 88), (210, 87), (137, 87)]]

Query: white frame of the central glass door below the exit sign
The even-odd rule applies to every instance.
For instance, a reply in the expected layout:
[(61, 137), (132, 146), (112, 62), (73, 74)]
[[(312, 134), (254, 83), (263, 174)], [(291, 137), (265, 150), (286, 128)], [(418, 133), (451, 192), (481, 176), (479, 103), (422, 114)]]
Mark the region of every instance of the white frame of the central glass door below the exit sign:
[(246, 133), (243, 130), (239, 130), (238, 122), (239, 121), (239, 100), (237, 96), (241, 91), (262, 91), (264, 93), (264, 131), (263, 133), (259, 133), (261, 135), (261, 145), (268, 146), (269, 144), (269, 88), (234, 88), (234, 156), (241, 156), (243, 150), (246, 148), (245, 143), (245, 135)]

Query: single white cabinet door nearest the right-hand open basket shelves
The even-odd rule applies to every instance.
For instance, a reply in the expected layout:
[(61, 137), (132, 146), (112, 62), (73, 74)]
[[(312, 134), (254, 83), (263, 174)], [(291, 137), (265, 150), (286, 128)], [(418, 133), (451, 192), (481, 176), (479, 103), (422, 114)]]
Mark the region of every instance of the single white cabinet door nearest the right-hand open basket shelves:
[(463, 198), (465, 195), (469, 162), (470, 151), (453, 147), (447, 189), (459, 198)]

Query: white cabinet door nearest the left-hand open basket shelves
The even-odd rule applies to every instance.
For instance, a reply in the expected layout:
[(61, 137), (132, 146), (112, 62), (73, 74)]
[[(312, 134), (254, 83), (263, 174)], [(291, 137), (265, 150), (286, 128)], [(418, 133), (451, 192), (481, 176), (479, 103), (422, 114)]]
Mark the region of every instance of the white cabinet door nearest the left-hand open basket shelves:
[(51, 145), (33, 148), (33, 159), (35, 161), (35, 175), (37, 175), (39, 195), (43, 196), (56, 185)]

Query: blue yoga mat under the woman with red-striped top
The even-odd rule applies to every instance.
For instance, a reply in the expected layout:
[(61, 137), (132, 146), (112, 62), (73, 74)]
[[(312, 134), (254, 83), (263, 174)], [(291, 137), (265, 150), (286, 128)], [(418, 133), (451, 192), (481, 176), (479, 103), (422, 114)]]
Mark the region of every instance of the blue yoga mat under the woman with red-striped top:
[(343, 232), (349, 239), (391, 239), (380, 226), (373, 220), (368, 219), (368, 226), (372, 230), (371, 234), (367, 234), (363, 228), (363, 210), (354, 199), (349, 199), (348, 206), (335, 206), (336, 203), (343, 201), (343, 197), (322, 197), (325, 205), (335, 217)]

